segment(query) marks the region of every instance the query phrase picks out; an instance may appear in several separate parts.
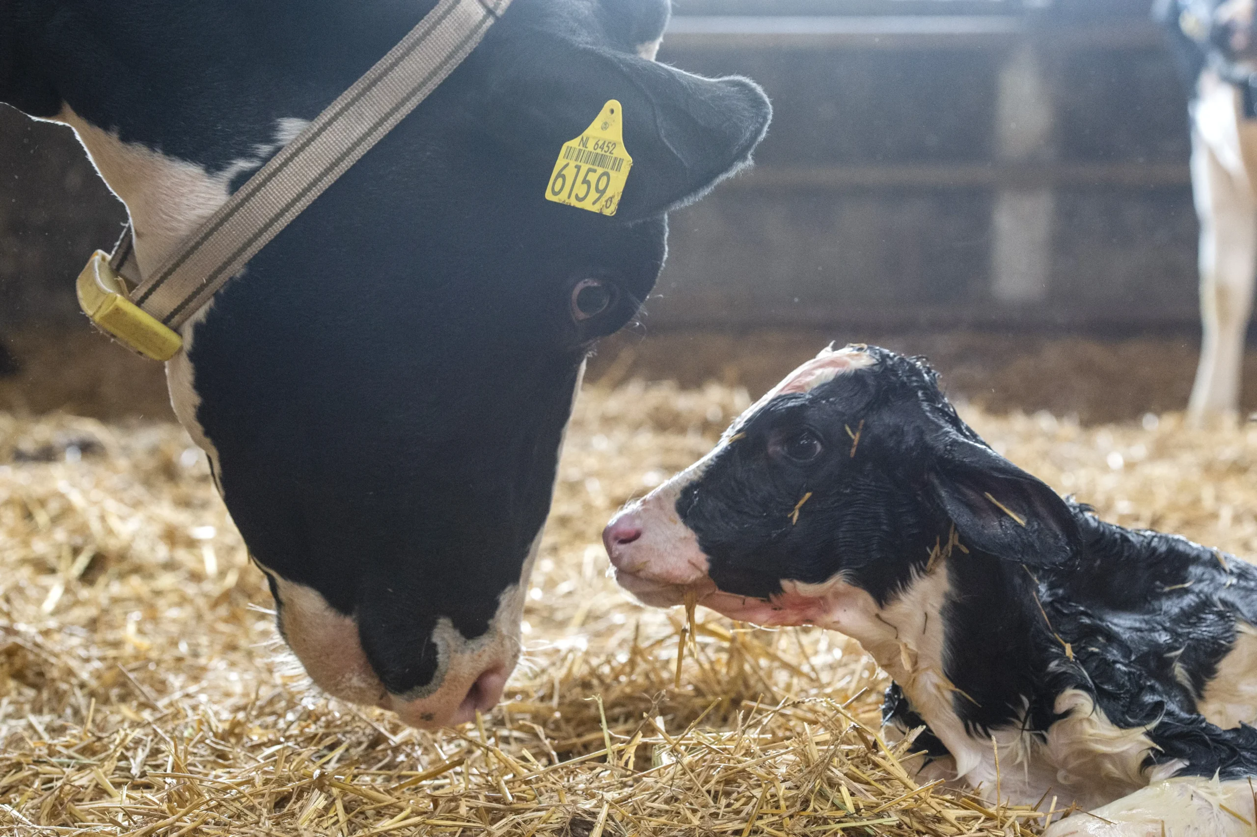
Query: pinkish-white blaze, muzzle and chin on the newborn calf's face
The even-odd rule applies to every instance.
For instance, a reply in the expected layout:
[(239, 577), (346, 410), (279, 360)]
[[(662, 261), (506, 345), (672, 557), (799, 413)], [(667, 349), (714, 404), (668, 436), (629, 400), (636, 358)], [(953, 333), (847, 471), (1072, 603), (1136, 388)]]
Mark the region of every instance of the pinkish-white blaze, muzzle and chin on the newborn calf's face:
[[(616, 568), (616, 581), (645, 604), (655, 607), (679, 604), (686, 592), (696, 592), (700, 596), (699, 601), (713, 610), (727, 612), (725, 608), (729, 608), (730, 616), (737, 611), (739, 615), (733, 618), (764, 625), (786, 623), (783, 620), (787, 616), (777, 604), (753, 603), (753, 599), (729, 597), (716, 591), (708, 576), (710, 571), (708, 555), (699, 547), (694, 532), (681, 522), (676, 501), (685, 486), (703, 476), (715, 456), (738, 442), (740, 429), (774, 400), (792, 393), (806, 393), (841, 375), (866, 368), (872, 363), (874, 358), (859, 346), (838, 351), (825, 349), (791, 372), (743, 412), (724, 432), (720, 444), (706, 456), (641, 500), (625, 506), (603, 532), (607, 554)], [(803, 607), (798, 597), (789, 594), (787, 597), (793, 602), (794, 610)], [(815, 608), (815, 603), (808, 603), (806, 607)]]

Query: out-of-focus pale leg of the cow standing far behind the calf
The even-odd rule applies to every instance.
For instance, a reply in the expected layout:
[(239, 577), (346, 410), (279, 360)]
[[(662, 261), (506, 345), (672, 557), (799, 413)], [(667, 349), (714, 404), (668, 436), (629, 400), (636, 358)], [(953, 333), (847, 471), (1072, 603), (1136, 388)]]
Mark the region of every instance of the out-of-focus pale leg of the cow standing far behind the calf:
[[(1188, 415), (1200, 422), (1239, 410), (1244, 337), (1257, 274), (1257, 200), (1246, 165), (1257, 157), (1257, 124), (1242, 118), (1236, 88), (1208, 73), (1200, 78), (1192, 122), (1203, 334)], [(1246, 146), (1249, 153), (1244, 153)]]

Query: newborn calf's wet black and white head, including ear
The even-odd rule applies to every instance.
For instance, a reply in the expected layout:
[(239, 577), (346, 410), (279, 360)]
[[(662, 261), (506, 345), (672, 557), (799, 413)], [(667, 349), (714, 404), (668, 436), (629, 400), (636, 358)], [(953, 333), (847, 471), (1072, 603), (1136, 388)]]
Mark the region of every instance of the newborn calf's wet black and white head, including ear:
[(924, 362), (852, 346), (792, 372), (603, 539), (647, 604), (693, 592), (738, 620), (841, 627), (843, 608), (885, 604), (949, 543), (1033, 568), (1068, 561), (1079, 533)]

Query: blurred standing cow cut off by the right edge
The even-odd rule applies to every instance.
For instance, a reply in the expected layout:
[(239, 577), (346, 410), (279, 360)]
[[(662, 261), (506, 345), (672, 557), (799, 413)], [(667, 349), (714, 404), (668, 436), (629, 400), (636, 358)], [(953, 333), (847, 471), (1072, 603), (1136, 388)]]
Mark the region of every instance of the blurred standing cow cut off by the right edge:
[(1257, 278), (1257, 0), (1158, 0), (1192, 84), (1192, 190), (1200, 217), (1199, 422), (1239, 410)]

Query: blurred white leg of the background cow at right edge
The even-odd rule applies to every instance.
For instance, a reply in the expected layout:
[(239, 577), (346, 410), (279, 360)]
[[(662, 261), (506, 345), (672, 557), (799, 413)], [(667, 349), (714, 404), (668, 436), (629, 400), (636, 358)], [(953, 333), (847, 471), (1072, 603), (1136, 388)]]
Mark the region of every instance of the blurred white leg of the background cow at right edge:
[[(1244, 140), (1241, 134), (1238, 140)], [(1199, 424), (1239, 410), (1244, 336), (1257, 274), (1257, 201), (1244, 173), (1223, 166), (1200, 132), (1192, 137), (1192, 190), (1200, 219), (1200, 364), (1188, 402)]]

